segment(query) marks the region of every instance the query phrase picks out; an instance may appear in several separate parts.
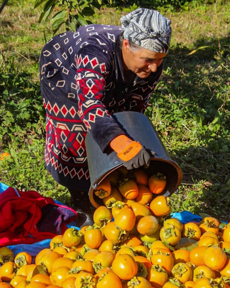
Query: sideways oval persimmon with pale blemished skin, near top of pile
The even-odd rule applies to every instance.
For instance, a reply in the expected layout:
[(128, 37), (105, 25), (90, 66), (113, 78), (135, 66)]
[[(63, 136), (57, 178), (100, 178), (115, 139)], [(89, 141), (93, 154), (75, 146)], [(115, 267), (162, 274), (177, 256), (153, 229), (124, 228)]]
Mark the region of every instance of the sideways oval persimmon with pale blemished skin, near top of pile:
[(141, 217), (137, 223), (137, 231), (143, 235), (151, 235), (158, 230), (158, 219), (153, 215)]

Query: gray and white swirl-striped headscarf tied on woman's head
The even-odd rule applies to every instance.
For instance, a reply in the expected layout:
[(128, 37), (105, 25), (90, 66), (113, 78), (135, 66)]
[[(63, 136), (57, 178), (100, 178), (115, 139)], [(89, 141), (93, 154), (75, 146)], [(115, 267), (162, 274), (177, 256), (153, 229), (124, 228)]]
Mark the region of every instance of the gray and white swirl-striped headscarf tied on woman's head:
[(171, 21), (158, 11), (138, 8), (120, 18), (124, 39), (158, 53), (167, 53), (171, 40)]

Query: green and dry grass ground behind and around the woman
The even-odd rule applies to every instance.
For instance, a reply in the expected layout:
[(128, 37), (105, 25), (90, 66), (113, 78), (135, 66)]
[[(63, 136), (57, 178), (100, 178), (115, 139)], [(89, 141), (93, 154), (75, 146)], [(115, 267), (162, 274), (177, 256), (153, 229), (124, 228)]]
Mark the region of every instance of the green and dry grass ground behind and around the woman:
[[(230, 204), (230, 3), (192, 1), (188, 10), (163, 11), (172, 21), (171, 48), (164, 74), (146, 115), (170, 156), (181, 166), (183, 181), (173, 194), (173, 211), (204, 212), (229, 221)], [(120, 24), (123, 11), (106, 8), (91, 20)], [(43, 161), (45, 113), (38, 60), (50, 22), (38, 24), (33, 1), (9, 1), (0, 15), (0, 181), (37, 190), (72, 205)], [(44, 36), (45, 33), (45, 36)], [(209, 46), (188, 55), (193, 49)]]

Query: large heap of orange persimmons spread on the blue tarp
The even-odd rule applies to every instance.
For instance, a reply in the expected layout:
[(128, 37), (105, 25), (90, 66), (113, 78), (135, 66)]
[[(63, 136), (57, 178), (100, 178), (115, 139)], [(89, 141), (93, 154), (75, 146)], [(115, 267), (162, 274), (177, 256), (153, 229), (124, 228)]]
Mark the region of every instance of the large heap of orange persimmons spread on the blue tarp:
[(55, 236), (34, 263), (1, 247), (0, 288), (229, 288), (230, 223), (220, 229), (205, 217), (183, 225), (170, 218), (165, 197), (154, 210), (159, 197), (150, 206), (99, 206), (93, 226)]

